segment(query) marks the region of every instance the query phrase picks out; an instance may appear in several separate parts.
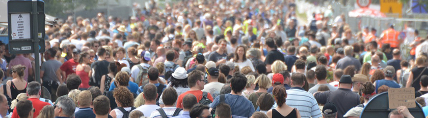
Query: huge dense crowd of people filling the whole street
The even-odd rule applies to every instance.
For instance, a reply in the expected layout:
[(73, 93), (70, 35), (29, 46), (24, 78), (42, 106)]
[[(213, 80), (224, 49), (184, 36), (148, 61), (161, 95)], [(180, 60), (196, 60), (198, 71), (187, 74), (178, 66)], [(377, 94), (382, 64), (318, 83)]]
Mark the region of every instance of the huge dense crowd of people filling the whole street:
[(428, 115), (417, 30), (352, 32), (332, 10), (304, 24), (292, 0), (133, 7), (46, 27), (40, 83), (34, 54), (0, 44), (0, 117), (360, 117), (377, 94), (411, 87)]

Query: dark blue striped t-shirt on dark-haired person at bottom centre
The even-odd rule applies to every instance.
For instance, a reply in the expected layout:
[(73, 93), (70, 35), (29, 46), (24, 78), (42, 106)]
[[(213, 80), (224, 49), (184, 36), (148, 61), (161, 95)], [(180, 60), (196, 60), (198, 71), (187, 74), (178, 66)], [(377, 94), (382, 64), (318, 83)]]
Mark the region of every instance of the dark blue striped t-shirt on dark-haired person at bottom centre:
[[(255, 112), (253, 103), (244, 96), (228, 93), (225, 95), (224, 100), (226, 104), (229, 104), (232, 110), (232, 117), (251, 117)], [(220, 104), (220, 96), (217, 96), (208, 106), (210, 108), (216, 108), (218, 104)]]

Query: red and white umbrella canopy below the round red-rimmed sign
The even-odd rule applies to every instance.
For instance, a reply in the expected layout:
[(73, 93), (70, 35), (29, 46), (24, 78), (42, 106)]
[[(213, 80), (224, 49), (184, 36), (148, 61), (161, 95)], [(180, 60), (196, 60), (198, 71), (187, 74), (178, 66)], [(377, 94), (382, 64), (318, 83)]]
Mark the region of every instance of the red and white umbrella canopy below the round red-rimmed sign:
[(361, 16), (370, 16), (370, 17), (386, 17), (384, 13), (379, 10), (373, 10), (370, 8), (360, 8), (353, 10), (348, 13), (350, 17), (361, 17)]

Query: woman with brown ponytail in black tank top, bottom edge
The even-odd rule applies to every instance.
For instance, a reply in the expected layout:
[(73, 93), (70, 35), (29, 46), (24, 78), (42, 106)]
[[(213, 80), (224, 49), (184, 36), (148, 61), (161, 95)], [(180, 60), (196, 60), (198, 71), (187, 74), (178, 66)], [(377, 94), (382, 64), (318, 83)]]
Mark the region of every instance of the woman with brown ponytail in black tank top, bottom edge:
[[(268, 111), (267, 115), (269, 118), (272, 117), (301, 117), (299, 110), (296, 108), (290, 107), (285, 103), (285, 99), (287, 98), (287, 92), (285, 91), (284, 86), (275, 86), (272, 91), (272, 95), (275, 101), (278, 104), (278, 107), (271, 109)], [(284, 116), (284, 115), (285, 116)]]

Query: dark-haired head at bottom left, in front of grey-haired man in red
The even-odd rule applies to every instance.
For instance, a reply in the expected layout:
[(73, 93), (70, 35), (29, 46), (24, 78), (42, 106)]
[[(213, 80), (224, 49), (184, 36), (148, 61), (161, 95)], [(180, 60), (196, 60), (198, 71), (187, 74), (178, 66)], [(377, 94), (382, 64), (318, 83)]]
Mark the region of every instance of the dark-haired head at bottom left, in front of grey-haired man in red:
[(33, 102), (30, 100), (21, 100), (16, 104), (16, 112), (19, 117), (29, 118), (33, 117), (36, 109), (33, 108)]

